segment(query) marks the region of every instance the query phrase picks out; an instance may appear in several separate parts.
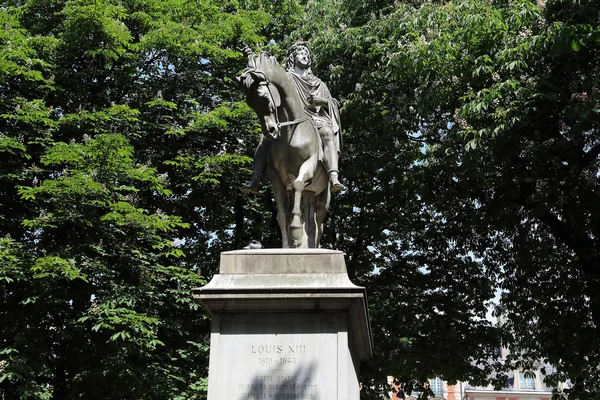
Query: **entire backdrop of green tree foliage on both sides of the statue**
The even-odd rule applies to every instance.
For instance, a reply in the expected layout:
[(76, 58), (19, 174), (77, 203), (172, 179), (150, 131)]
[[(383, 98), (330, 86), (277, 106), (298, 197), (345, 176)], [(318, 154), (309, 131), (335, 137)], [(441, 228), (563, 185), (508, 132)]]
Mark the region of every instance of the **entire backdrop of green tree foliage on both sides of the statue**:
[[(203, 398), (190, 289), (278, 247), (249, 178), (239, 49), (309, 40), (342, 101), (325, 247), (367, 287), (387, 375), (600, 393), (593, 0), (10, 0), (0, 8), (0, 393)], [(204, 277), (204, 278), (203, 278)], [(486, 313), (500, 294), (492, 324)], [(508, 360), (497, 347), (512, 350)], [(426, 395), (426, 393), (425, 393)]]

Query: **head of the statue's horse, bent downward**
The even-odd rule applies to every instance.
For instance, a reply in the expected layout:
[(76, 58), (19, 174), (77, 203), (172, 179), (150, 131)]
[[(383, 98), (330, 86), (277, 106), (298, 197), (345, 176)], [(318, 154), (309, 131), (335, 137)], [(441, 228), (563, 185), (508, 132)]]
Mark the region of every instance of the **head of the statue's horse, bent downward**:
[(265, 138), (277, 139), (281, 134), (277, 115), (281, 96), (275, 85), (267, 80), (263, 72), (254, 68), (246, 68), (238, 81), (246, 93), (246, 102), (258, 115)]

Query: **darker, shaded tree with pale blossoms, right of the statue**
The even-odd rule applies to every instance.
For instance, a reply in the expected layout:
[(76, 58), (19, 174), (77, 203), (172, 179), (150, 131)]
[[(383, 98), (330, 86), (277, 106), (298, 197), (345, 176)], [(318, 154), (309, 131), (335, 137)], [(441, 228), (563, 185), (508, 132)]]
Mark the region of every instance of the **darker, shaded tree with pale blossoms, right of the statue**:
[[(598, 395), (599, 18), (569, 0), (307, 9), (290, 40), (312, 37), (344, 101), (328, 239), (370, 293), (373, 379), (478, 382), (538, 360), (570, 398)], [(501, 328), (485, 319), (498, 290)]]

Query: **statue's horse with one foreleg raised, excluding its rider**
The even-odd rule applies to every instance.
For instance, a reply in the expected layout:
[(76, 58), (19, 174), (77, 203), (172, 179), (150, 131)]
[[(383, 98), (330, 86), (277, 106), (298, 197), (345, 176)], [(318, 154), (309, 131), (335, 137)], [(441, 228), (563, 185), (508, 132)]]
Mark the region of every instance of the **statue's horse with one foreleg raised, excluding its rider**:
[[(304, 112), (295, 85), (273, 57), (250, 55), (248, 68), (238, 79), (260, 121), (282, 247), (319, 247), (331, 195), (318, 130)], [(287, 193), (290, 189), (292, 196)]]

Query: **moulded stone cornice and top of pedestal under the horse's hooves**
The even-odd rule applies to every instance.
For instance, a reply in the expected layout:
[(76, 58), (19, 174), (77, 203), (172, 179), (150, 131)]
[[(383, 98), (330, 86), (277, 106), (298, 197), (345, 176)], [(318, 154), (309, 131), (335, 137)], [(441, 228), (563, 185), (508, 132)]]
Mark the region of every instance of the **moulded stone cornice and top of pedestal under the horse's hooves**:
[(341, 251), (224, 252), (220, 274), (193, 292), (210, 315), (250, 311), (347, 313), (359, 358), (372, 354), (366, 290), (348, 278)]

